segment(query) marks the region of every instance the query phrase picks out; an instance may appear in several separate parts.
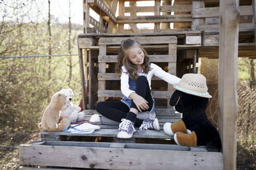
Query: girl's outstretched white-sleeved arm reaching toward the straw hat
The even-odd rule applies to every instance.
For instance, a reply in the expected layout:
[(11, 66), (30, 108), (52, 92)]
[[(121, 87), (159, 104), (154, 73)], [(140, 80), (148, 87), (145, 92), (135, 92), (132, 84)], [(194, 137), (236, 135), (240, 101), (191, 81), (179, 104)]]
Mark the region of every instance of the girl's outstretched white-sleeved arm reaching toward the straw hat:
[(159, 67), (156, 64), (151, 63), (151, 68), (153, 68), (153, 74), (156, 75), (157, 77), (163, 79), (164, 81), (168, 82), (169, 84), (178, 84), (180, 82), (180, 78), (171, 75), (170, 73), (165, 72), (162, 70), (161, 67)]

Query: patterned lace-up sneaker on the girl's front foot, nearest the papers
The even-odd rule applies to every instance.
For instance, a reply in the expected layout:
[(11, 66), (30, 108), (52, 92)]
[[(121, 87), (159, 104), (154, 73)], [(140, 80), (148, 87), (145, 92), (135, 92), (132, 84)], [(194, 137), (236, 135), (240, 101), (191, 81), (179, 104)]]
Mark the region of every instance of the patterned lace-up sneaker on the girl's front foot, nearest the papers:
[(131, 138), (133, 133), (136, 132), (134, 128), (134, 123), (130, 120), (122, 119), (122, 122), (119, 124), (120, 132), (118, 133), (118, 138)]

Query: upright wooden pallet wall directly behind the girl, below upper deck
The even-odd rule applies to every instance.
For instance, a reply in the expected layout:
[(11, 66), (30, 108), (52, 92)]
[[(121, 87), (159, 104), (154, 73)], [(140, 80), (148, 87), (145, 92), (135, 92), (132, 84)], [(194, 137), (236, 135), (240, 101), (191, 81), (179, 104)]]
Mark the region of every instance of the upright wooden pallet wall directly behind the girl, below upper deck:
[[(157, 62), (159, 66), (162, 66), (163, 69), (165, 67), (165, 70), (173, 75), (176, 75), (176, 70), (178, 70), (178, 77), (181, 77), (185, 73), (197, 73), (197, 48), (201, 46), (201, 33), (198, 31), (140, 34), (80, 34), (78, 36), (78, 47), (80, 51), (81, 83), (84, 88), (82, 49), (87, 49), (87, 61), (89, 62), (87, 70), (89, 75), (88, 108), (94, 109), (96, 101), (104, 101), (106, 97), (123, 96), (119, 90), (111, 89), (108, 81), (120, 82), (119, 76), (109, 67), (113, 68), (113, 64), (117, 62), (121, 40), (126, 38), (138, 40), (148, 52), (150, 62)], [(182, 52), (178, 52), (178, 58), (177, 49)], [(190, 65), (193, 65), (193, 67), (190, 67)], [(152, 84), (156, 80), (159, 81), (160, 79), (153, 77)], [(116, 84), (116, 87), (118, 86), (120, 86), (120, 83)], [(165, 86), (166, 88), (164, 88)], [(168, 87), (167, 85), (163, 85), (163, 87), (159, 88), (162, 88), (162, 90), (152, 89), (155, 98), (163, 100), (164, 98), (171, 97), (173, 91), (171, 90), (171, 84)], [(168, 105), (167, 102), (165, 108)]]

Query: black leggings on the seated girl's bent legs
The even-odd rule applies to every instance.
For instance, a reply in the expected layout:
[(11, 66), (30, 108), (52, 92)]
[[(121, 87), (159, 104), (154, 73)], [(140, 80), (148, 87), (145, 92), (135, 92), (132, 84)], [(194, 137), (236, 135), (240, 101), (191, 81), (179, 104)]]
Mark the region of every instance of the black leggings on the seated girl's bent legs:
[[(153, 99), (151, 96), (151, 91), (149, 88), (148, 80), (145, 76), (139, 76), (136, 80), (136, 94), (145, 98), (148, 102), (149, 109), (143, 111), (150, 111), (153, 107)], [(131, 108), (137, 109), (136, 105), (132, 102)], [(121, 101), (112, 101), (112, 102), (99, 102), (96, 104), (96, 110), (103, 116), (121, 122), (121, 119), (126, 118), (127, 112), (130, 111), (130, 108)], [(137, 109), (138, 110), (138, 109)], [(143, 120), (135, 120), (135, 126), (140, 126), (143, 123)]]

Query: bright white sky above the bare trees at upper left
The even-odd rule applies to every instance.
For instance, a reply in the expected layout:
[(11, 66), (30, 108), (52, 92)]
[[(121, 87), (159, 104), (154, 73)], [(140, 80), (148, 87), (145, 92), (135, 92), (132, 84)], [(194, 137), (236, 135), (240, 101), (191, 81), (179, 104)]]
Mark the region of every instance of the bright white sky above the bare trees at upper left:
[[(70, 0), (71, 2), (71, 22), (83, 25), (83, 0)], [(14, 8), (15, 7), (15, 8)], [(47, 0), (16, 0), (0, 1), (1, 20), (5, 16), (6, 20), (16, 20), (14, 13), (23, 17), (23, 22), (32, 20), (33, 22), (42, 22), (48, 19), (48, 1)], [(50, 13), (53, 21), (68, 23), (69, 0), (51, 0)]]

